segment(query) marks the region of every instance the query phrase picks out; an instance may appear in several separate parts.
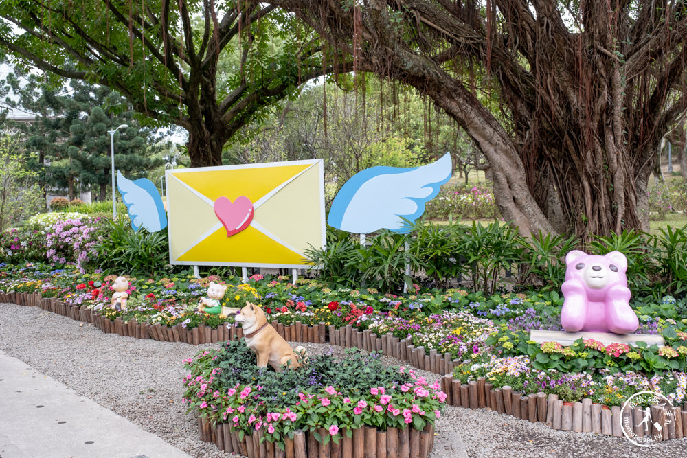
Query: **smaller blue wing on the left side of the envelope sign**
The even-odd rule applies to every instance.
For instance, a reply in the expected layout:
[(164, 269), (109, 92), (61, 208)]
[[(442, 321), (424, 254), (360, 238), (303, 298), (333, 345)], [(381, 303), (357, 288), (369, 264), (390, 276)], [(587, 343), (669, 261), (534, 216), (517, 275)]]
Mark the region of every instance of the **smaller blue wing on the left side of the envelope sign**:
[(122, 193), (133, 230), (144, 227), (148, 232), (157, 232), (167, 227), (165, 207), (152, 181), (147, 178), (131, 181), (117, 170), (117, 189)]

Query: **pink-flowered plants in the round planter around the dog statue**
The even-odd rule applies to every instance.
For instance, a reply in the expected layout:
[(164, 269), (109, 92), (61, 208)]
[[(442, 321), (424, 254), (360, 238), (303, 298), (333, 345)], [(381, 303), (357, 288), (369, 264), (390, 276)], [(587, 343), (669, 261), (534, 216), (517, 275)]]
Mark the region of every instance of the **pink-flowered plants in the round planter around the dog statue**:
[[(433, 424), (446, 399), (438, 382), (429, 385), (414, 371), (386, 367), (379, 359), (349, 350), (342, 360), (326, 354), (277, 373), (258, 368), (241, 339), (185, 360), (190, 373), (183, 402), (212, 422), (232, 425), (240, 439), (262, 428), (267, 441), (281, 448), (297, 429), (326, 444), (363, 426), (423, 430)], [(325, 437), (319, 428), (328, 432)]]

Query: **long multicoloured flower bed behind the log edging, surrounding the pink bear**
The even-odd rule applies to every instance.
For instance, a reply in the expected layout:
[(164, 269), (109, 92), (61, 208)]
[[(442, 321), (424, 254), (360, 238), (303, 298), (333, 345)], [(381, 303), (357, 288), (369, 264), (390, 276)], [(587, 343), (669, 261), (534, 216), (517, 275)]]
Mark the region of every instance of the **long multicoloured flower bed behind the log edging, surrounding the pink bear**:
[[(210, 279), (219, 282), (218, 277), (132, 279), (129, 310), (115, 312), (106, 306), (111, 278), (49, 269), (40, 265), (3, 268), (0, 290), (13, 292), (10, 301), (54, 304), (49, 310), (92, 321), (104, 332), (196, 344), (240, 339), (240, 328), (231, 317), (193, 310)], [(450, 393), (451, 404), (458, 400), (463, 405), (464, 398), (464, 407), (472, 407), (470, 393), (482, 377), (484, 407), (493, 394), (500, 393), (493, 408), (504, 412), (508, 403), (503, 401), (499, 409), (497, 399), (504, 399), (506, 389), (510, 390), (506, 392), (511, 396), (510, 409), (515, 409), (513, 393), (519, 402), (533, 396), (537, 406), (541, 393), (547, 405), (550, 395), (556, 401), (613, 409), (640, 388), (660, 391), (675, 404), (685, 401), (686, 320), (677, 319), (672, 297), (660, 304), (648, 300), (632, 304), (640, 317), (639, 332), (661, 334), (666, 342), (661, 349), (641, 342), (630, 347), (594, 341), (561, 347), (534, 343), (528, 335), (530, 329), (560, 330), (562, 298), (555, 292), (484, 297), (462, 290), (435, 290), (395, 296), (373, 288), (331, 288), (313, 280), (291, 284), (286, 278), (261, 276), (252, 277), (247, 285), (229, 284), (227, 304), (259, 300), (269, 309), (274, 328), (289, 341), (377, 350), (414, 367), (447, 374), (451, 380), (444, 381), (444, 391)], [(51, 299), (41, 301), (37, 295)], [(467, 394), (461, 398), (463, 389)], [(475, 407), (480, 405), (477, 402)], [(551, 405), (556, 411), (555, 404)], [(563, 407), (559, 410), (562, 413)]]

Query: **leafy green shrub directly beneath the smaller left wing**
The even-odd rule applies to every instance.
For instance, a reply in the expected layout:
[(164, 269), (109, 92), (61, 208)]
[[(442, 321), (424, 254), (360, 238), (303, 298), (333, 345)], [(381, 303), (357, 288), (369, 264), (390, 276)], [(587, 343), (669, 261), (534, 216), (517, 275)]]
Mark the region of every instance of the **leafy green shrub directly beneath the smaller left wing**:
[(133, 277), (165, 275), (169, 269), (167, 231), (133, 231), (124, 218), (111, 221), (108, 236), (96, 247), (103, 272)]

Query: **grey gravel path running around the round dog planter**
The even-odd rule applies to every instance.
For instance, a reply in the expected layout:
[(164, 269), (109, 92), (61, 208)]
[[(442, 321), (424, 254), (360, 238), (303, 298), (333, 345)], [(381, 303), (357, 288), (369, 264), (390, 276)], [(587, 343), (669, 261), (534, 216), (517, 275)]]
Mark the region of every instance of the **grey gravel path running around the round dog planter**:
[[(309, 354), (330, 345), (306, 343)], [(214, 345), (201, 347), (218, 348)], [(199, 348), (103, 334), (36, 307), (0, 304), (0, 349), (79, 394), (196, 457), (235, 456), (198, 439), (196, 418), (181, 403), (183, 363)], [(343, 350), (334, 347), (335, 355)], [(385, 363), (399, 364), (384, 357)], [(435, 374), (423, 373), (427, 380)], [(626, 439), (564, 433), (493, 411), (447, 407), (437, 424), (432, 458), (459, 457), (682, 457), (687, 439), (640, 448)], [(461, 441), (462, 439), (462, 441)]]

